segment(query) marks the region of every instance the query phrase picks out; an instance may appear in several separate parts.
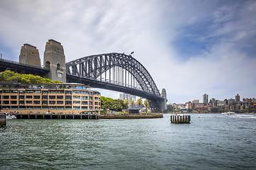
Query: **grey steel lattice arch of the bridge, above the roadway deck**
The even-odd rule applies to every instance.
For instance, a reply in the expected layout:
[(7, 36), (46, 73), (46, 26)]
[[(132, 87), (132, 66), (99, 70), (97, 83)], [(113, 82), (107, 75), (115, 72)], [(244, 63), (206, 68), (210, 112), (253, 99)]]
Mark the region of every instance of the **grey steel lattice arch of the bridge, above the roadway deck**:
[[(141, 91), (161, 97), (161, 94), (159, 93), (159, 90), (157, 89), (149, 72), (131, 55), (108, 53), (82, 57), (78, 60), (67, 62), (66, 70), (67, 74), (75, 77), (100, 79), (100, 81), (108, 81), (109, 83), (127, 86), (130, 88), (134, 88), (134, 86), (132, 87), (133, 78), (139, 84)], [(105, 79), (104, 77), (102, 78), (102, 74), (105, 74)], [(111, 74), (117, 74), (117, 78), (113, 78), (111, 80)], [(122, 75), (118, 76), (118, 74)], [(109, 77), (110, 79), (107, 80), (106, 77)], [(130, 81), (131, 84), (127, 84), (127, 81)], [(135, 81), (133, 81), (133, 83), (134, 82)]]

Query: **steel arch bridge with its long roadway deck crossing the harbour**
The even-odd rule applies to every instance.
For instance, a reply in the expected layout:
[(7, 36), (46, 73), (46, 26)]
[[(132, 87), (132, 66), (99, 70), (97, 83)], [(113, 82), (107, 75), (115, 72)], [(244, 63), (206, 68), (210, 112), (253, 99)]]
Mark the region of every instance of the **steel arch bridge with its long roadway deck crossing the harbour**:
[[(52, 58), (55, 60), (56, 56), (53, 55)], [(57, 72), (56, 75), (63, 73), (66, 77), (65, 81), (68, 83), (80, 83), (94, 88), (140, 96), (149, 99), (151, 108), (155, 112), (164, 111), (166, 108), (165, 90), (160, 94), (149, 72), (132, 55), (115, 52), (91, 55), (67, 62), (65, 66), (60, 67), (61, 62), (53, 63), (53, 60), (49, 60), (46, 57), (45, 52), (44, 62), (44, 67), (42, 68), (21, 63), (21, 56), (20, 62), (1, 59), (0, 71), (3, 72), (9, 69), (18, 73), (35, 74), (53, 80), (58, 79), (50, 77), (49, 74), (51, 72), (51, 74), (56, 74)], [(56, 71), (53, 71), (54, 67), (50, 67), (49, 64), (53, 64), (56, 67)]]

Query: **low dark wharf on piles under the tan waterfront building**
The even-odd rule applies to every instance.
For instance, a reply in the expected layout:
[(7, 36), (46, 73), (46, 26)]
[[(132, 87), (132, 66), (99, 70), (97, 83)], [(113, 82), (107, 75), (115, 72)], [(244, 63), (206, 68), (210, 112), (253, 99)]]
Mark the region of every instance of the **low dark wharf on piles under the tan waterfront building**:
[(99, 119), (99, 114), (46, 114), (46, 113), (16, 113), (17, 119)]

